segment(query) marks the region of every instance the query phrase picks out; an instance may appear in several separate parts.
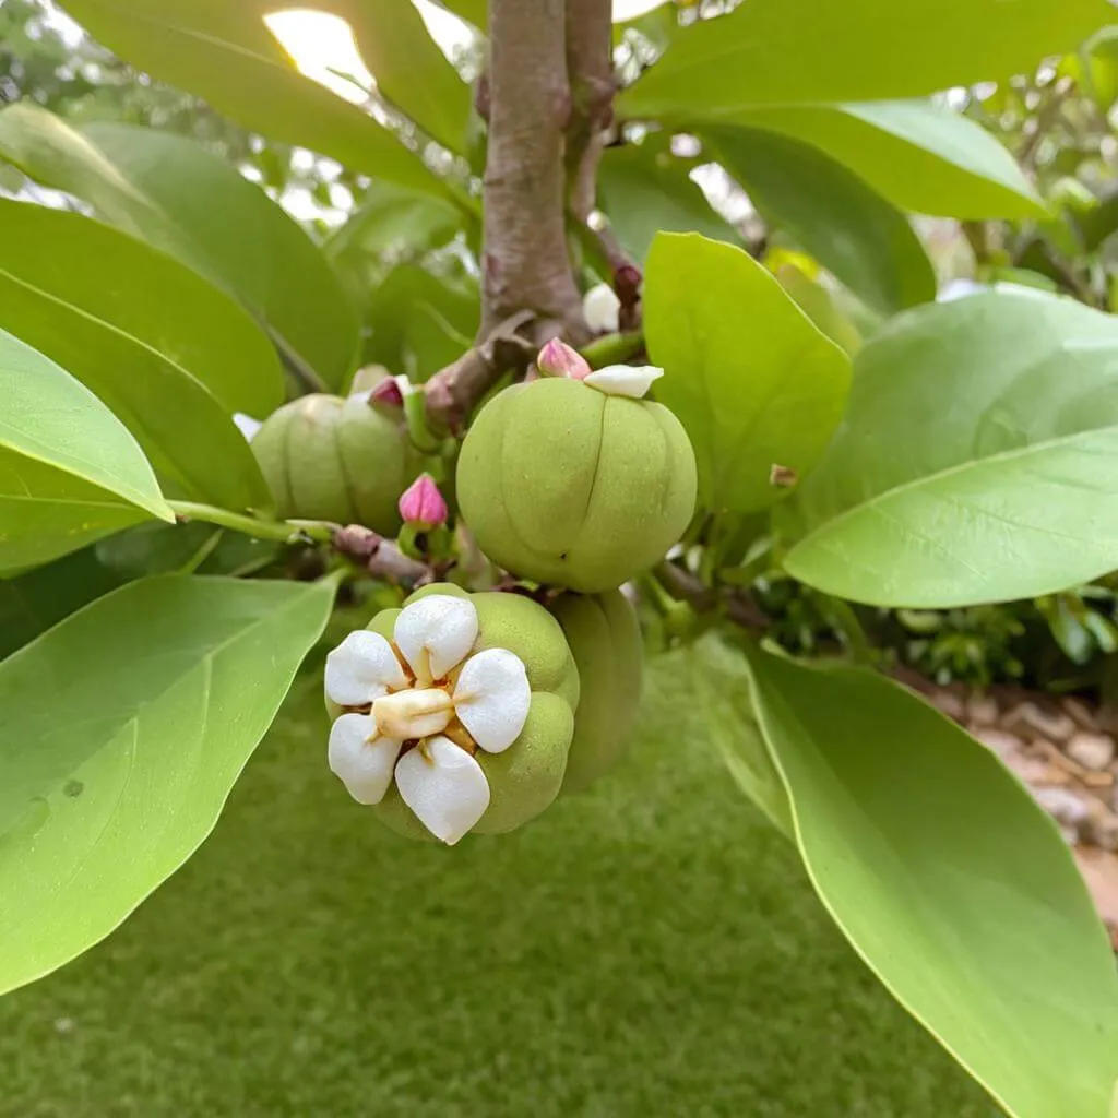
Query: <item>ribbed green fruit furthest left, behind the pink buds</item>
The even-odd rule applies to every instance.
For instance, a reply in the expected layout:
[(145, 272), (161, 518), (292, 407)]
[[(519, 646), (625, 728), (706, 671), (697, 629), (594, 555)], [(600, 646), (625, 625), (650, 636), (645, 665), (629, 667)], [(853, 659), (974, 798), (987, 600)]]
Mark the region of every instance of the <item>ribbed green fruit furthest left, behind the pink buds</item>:
[(304, 396), (271, 415), (252, 443), (283, 519), (363, 524), (396, 536), (396, 502), (421, 468), (402, 423), (364, 396)]

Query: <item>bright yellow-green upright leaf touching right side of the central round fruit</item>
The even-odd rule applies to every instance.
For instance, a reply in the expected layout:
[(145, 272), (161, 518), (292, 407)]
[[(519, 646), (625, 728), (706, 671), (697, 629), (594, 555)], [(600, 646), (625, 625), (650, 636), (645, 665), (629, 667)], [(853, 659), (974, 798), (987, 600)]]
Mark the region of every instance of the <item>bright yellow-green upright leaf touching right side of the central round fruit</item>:
[(666, 376), (656, 397), (699, 462), (700, 503), (752, 512), (787, 490), (774, 465), (811, 468), (842, 418), (850, 359), (732, 245), (662, 234), (645, 272), (645, 337)]

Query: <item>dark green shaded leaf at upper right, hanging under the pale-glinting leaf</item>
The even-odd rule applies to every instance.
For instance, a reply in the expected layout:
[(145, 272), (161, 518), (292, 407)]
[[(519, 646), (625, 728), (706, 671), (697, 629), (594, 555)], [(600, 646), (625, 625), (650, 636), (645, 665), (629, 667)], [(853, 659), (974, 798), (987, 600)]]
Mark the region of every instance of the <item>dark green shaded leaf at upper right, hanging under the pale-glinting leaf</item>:
[(702, 135), (760, 214), (873, 310), (889, 315), (936, 297), (920, 238), (856, 174), (771, 132), (712, 129)]

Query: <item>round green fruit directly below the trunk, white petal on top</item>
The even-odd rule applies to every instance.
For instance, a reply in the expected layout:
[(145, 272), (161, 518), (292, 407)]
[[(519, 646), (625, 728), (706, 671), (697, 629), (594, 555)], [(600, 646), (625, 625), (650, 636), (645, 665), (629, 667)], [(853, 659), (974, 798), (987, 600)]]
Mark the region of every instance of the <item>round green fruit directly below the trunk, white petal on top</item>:
[(661, 559), (694, 512), (695, 458), (663, 405), (548, 378), (495, 396), (458, 458), (479, 547), (522, 578), (597, 594)]

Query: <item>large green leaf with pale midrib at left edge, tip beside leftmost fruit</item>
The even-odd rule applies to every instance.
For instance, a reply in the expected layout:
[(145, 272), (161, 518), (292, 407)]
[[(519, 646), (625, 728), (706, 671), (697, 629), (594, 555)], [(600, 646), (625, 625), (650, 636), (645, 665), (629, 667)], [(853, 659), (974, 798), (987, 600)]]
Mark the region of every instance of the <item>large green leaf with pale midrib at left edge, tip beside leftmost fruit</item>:
[[(226, 310), (236, 324), (231, 337)], [(174, 260), (79, 214), (0, 201), (0, 328), (95, 392), (183, 492), (233, 509), (271, 504), (229, 411), (193, 375), (197, 368), (209, 382), (241, 378), (246, 370), (236, 362), (246, 356), (245, 330), (257, 368), (278, 378), (271, 347)], [(265, 406), (280, 396), (278, 383), (254, 394)]]

